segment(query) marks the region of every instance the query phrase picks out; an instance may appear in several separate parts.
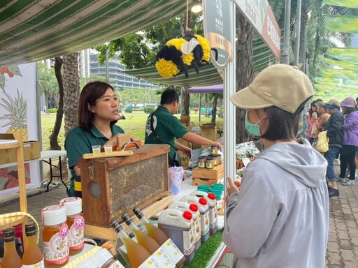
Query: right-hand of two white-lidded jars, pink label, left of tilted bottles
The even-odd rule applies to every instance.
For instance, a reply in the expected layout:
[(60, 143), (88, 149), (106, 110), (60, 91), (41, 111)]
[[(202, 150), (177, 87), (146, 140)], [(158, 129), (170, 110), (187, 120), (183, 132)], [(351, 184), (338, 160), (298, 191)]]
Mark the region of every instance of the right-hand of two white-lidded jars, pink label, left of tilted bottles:
[(85, 245), (85, 218), (82, 212), (82, 199), (80, 198), (64, 198), (59, 204), (66, 207), (67, 220), (69, 225), (69, 250), (70, 255), (76, 255), (83, 250)]

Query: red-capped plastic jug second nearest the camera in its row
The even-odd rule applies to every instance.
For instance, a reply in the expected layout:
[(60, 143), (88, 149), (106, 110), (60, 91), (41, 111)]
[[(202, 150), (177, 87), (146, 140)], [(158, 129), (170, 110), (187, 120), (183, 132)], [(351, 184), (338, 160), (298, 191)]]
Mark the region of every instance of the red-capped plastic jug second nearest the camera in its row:
[(181, 211), (190, 211), (193, 214), (193, 232), (194, 232), (194, 242), (195, 242), (195, 251), (201, 246), (201, 218), (199, 207), (197, 204), (189, 204), (188, 202), (178, 201), (173, 202), (169, 209), (179, 209)]

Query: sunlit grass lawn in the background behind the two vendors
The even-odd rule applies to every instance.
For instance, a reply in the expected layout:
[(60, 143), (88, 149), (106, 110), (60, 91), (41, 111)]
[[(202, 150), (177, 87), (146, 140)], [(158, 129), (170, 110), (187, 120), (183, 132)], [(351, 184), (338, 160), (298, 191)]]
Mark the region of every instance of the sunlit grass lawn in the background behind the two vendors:
[[(134, 111), (132, 113), (124, 112), (124, 117), (126, 120), (120, 120), (117, 122), (121, 128), (123, 128), (125, 133), (134, 135), (138, 140), (144, 140), (145, 133), (145, 121), (147, 120), (148, 114), (145, 114), (143, 111)], [(176, 114), (176, 117), (180, 118), (179, 114)], [(190, 112), (191, 121), (194, 123), (194, 126), (199, 126), (199, 113), (191, 111)], [(56, 114), (41, 114), (41, 128), (42, 128), (42, 142), (43, 150), (50, 149), (50, 135), (52, 133), (53, 126), (55, 124)], [(210, 117), (204, 117), (201, 115), (201, 123), (210, 123)], [(216, 118), (217, 126), (222, 127), (223, 119)], [(62, 121), (62, 128), (59, 132), (59, 144), (62, 149), (64, 149), (64, 121)]]

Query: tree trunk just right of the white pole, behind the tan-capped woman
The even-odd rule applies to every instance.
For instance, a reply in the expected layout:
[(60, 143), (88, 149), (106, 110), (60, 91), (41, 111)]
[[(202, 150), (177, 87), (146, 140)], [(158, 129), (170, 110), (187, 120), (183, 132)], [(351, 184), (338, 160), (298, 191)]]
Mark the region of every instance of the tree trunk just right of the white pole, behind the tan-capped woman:
[[(254, 77), (252, 61), (255, 30), (248, 20), (236, 8), (236, 29), (238, 41), (236, 42), (236, 91), (248, 87)], [(225, 126), (225, 129), (228, 129)], [(245, 110), (236, 108), (236, 144), (247, 142), (250, 135), (245, 129)]]

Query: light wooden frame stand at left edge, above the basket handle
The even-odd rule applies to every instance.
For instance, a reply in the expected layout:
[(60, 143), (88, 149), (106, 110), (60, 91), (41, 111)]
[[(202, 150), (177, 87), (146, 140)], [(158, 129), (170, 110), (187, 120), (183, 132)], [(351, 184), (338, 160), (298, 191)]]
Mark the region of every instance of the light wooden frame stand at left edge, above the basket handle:
[[(17, 179), (19, 181), (19, 198), (20, 198), (20, 211), (27, 213), (27, 196), (26, 196), (26, 182), (25, 182), (25, 169), (24, 169), (24, 151), (22, 147), (22, 136), (20, 133), (14, 134), (16, 140), (8, 140), (8, 142), (0, 143), (0, 151), (3, 149), (16, 149), (17, 160)], [(0, 215), (2, 216), (2, 215)], [(25, 226), (27, 223), (27, 216), (10, 216), (0, 218), (0, 229), (11, 228), (15, 225), (22, 223), (22, 235), (25, 237)]]

